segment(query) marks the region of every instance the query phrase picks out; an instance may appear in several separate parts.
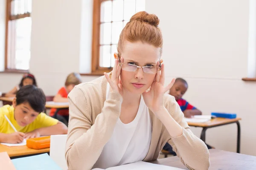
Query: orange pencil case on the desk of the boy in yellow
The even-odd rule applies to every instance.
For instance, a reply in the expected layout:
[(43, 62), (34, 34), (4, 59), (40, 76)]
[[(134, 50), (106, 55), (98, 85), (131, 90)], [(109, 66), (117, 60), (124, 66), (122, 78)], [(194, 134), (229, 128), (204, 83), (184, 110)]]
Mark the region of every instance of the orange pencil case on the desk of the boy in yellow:
[(51, 136), (43, 136), (26, 140), (26, 146), (32, 149), (43, 149), (50, 147)]

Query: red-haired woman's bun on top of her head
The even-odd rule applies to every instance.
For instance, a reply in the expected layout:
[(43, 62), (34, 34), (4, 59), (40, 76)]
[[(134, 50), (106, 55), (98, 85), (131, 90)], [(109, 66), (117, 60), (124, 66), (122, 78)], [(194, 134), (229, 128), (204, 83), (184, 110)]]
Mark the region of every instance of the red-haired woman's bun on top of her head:
[(155, 14), (148, 14), (146, 11), (140, 11), (136, 14), (134, 14), (131, 19), (131, 21), (139, 20), (141, 22), (149, 23), (152, 26), (158, 27), (160, 20)]

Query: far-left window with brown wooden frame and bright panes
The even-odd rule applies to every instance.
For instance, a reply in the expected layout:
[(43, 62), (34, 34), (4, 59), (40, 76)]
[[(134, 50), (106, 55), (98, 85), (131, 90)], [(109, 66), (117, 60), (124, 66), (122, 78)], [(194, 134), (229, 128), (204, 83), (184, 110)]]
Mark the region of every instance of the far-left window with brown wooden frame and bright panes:
[(6, 0), (5, 70), (29, 70), (32, 0)]

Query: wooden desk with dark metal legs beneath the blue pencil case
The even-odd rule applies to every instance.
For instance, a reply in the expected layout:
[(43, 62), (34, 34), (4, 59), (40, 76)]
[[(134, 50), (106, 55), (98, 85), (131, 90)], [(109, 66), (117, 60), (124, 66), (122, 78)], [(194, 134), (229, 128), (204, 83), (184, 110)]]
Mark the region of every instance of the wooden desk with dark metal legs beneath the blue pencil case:
[(240, 129), (239, 120), (241, 120), (241, 118), (236, 118), (236, 119), (214, 118), (214, 119), (211, 119), (211, 120), (209, 120), (207, 122), (204, 122), (204, 123), (188, 122), (188, 125), (189, 126), (194, 126), (194, 127), (203, 127), (200, 139), (205, 142), (205, 132), (206, 132), (207, 129), (209, 129), (211, 127), (217, 127), (217, 126), (222, 126), (222, 125), (228, 125), (228, 124), (231, 124), (231, 123), (236, 123), (236, 125), (237, 125), (236, 152), (240, 153), (241, 129)]

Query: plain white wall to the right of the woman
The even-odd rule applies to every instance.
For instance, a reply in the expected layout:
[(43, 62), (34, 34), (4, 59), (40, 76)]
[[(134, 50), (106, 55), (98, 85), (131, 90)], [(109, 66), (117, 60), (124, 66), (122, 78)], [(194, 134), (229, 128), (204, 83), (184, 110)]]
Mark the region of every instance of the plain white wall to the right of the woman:
[[(203, 114), (237, 113), (241, 153), (256, 156), (256, 82), (241, 80), (247, 77), (249, 0), (146, 0), (146, 11), (160, 18), (166, 81), (185, 78), (184, 98)], [(192, 130), (200, 136), (201, 128)], [(208, 129), (206, 142), (236, 151), (236, 130), (235, 124)]]

